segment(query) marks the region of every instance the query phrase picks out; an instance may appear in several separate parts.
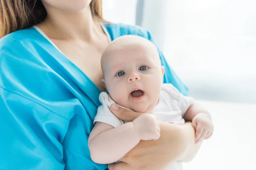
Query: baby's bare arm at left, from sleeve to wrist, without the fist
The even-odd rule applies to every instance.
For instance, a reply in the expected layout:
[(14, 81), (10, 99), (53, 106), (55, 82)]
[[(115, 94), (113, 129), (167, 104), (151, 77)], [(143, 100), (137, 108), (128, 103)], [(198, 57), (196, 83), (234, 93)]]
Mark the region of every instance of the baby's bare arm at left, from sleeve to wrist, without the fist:
[(96, 122), (88, 139), (91, 159), (99, 164), (110, 164), (121, 159), (140, 142), (132, 122), (117, 128)]

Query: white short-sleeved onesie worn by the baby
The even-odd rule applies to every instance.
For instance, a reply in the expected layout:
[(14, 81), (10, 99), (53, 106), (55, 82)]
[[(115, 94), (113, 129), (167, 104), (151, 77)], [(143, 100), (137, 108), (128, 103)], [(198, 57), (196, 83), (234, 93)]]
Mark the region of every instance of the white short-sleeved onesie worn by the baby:
[[(104, 122), (116, 128), (125, 123), (111, 113), (110, 106), (113, 103), (116, 104), (116, 102), (113, 101), (108, 93), (102, 92), (99, 95), (99, 101), (102, 105), (98, 108), (97, 115), (93, 121), (94, 124), (95, 122)], [(160, 91), (159, 102), (150, 114), (156, 115), (157, 118), (163, 122), (183, 124), (185, 122), (183, 116), (193, 102), (193, 98), (183, 96), (172, 84), (163, 84)], [(120, 105), (118, 106), (123, 108)], [(165, 170), (182, 170), (182, 164), (175, 161)]]

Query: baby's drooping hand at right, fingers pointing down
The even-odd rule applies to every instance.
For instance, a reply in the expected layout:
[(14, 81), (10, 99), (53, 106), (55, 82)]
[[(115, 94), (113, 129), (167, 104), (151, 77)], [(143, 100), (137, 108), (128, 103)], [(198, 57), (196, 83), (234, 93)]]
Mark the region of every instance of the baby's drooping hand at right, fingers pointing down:
[(213, 133), (212, 119), (207, 113), (198, 113), (192, 120), (192, 126), (195, 128), (195, 144), (209, 139)]

